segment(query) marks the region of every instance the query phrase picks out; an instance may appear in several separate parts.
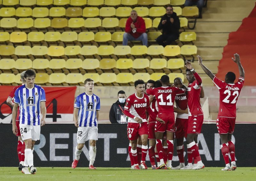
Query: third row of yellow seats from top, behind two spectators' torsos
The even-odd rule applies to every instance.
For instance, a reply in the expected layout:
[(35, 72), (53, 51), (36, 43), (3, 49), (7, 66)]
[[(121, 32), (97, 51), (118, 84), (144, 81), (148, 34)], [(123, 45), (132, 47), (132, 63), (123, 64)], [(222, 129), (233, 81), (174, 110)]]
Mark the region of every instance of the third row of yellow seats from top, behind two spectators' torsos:
[[(104, 27), (104, 28), (114, 28), (114, 27), (120, 27), (124, 28), (126, 21), (128, 18), (121, 18), (118, 20), (118, 18), (104, 18), (101, 20), (100, 18), (53, 18), (52, 20), (50, 18), (36, 18), (33, 20), (32, 18), (19, 18), (18, 20), (15, 18), (2, 18), (0, 20), (0, 27), (2, 28), (13, 28), (17, 27), (20, 29), (26, 29), (26, 28), (97, 28), (97, 27)], [(146, 28), (157, 28), (159, 25), (159, 22), (161, 18), (155, 18), (153, 20), (150, 18), (143, 18), (145, 20)], [(187, 18), (179, 18), (180, 19), (180, 27), (187, 27), (188, 26), (188, 19)]]

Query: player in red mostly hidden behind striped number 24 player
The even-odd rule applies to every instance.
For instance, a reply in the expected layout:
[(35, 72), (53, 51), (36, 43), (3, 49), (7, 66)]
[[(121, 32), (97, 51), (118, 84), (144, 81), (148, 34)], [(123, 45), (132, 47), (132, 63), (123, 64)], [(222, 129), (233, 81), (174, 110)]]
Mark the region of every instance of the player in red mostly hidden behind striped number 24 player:
[[(26, 80), (24, 79), (25, 72), (26, 71), (24, 71), (20, 74), (20, 81), (22, 82), (22, 85), (26, 83)], [(12, 100), (14, 98), (14, 93), (22, 85), (15, 86), (12, 89), (11, 93), (9, 94), (9, 96), (6, 100), (8, 105), (13, 107)], [(25, 159), (25, 142), (23, 142), (22, 139), (21, 139), (19, 116), (20, 116), (20, 111), (18, 109), (18, 113), (17, 113), (17, 117), (16, 117), (16, 126), (17, 126), (17, 129), (18, 129), (18, 132), (17, 132), (16, 136), (18, 136), (17, 153), (18, 153), (18, 157), (19, 157), (19, 161), (20, 161), (19, 170), (21, 171), (22, 168), (23, 168), (24, 159)]]

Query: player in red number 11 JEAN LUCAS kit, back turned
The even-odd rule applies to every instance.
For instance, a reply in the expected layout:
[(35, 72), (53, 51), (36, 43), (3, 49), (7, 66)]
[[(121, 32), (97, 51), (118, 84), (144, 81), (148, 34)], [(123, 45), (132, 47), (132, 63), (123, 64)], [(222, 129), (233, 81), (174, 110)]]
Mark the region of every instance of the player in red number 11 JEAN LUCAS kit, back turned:
[(168, 145), (168, 161), (167, 169), (172, 169), (172, 156), (173, 156), (173, 133), (175, 131), (175, 120), (173, 112), (173, 102), (176, 95), (184, 94), (184, 89), (177, 87), (169, 87), (170, 79), (169, 76), (164, 75), (161, 77), (162, 87), (147, 89), (146, 93), (154, 95), (156, 97), (158, 114), (157, 117), (163, 121), (156, 122), (156, 149), (160, 159), (160, 166), (157, 169), (165, 167), (164, 156), (163, 156), (163, 145), (162, 139), (164, 132), (167, 131), (167, 145)]

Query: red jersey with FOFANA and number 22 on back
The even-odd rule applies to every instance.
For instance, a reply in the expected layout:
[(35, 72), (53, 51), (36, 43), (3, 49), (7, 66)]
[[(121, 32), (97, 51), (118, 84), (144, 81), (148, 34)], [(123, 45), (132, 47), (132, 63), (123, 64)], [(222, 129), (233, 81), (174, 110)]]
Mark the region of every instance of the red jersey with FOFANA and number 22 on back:
[(218, 116), (236, 118), (236, 101), (244, 85), (244, 78), (239, 77), (236, 83), (225, 83), (217, 77), (212, 82), (220, 92), (220, 108)]

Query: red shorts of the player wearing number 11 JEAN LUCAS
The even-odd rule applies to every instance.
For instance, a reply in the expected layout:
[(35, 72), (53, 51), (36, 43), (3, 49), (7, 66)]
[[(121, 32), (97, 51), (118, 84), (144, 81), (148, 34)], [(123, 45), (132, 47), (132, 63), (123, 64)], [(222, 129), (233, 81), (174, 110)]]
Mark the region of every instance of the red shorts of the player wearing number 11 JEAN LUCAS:
[(173, 112), (158, 113), (158, 118), (164, 120), (165, 124), (156, 121), (155, 132), (164, 133), (165, 131), (175, 132), (175, 119)]

